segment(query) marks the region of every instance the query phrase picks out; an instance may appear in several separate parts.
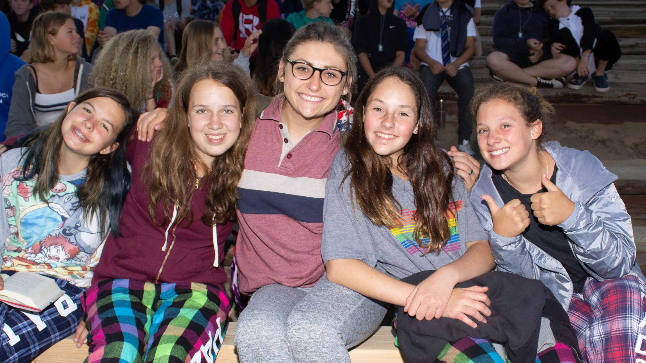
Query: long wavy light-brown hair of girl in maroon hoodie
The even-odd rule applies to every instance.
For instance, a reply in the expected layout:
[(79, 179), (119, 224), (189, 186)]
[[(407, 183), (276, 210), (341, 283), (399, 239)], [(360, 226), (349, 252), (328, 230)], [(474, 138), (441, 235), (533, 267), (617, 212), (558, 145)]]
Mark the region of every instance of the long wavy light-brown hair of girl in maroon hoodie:
[[(148, 184), (151, 201), (148, 212), (158, 224), (156, 210), (163, 204), (164, 217), (171, 217), (172, 204), (177, 208), (176, 223), (183, 220), (193, 222), (190, 199), (197, 179), (195, 166), (209, 170), (205, 181), (209, 191), (205, 201), (206, 210), (202, 222), (209, 226), (224, 223), (235, 215), (236, 186), (244, 169), (244, 152), (253, 124), (249, 117), (243, 117), (238, 140), (227, 152), (217, 156), (211, 168), (207, 168), (197, 155), (197, 150), (187, 125), (189, 98), (194, 84), (211, 79), (231, 89), (244, 108), (251, 97), (251, 79), (243, 70), (233, 64), (208, 61), (198, 63), (185, 70), (177, 89), (172, 95), (171, 108), (163, 130), (152, 141), (151, 158), (144, 167), (143, 177)], [(256, 115), (253, 115), (255, 118)]]

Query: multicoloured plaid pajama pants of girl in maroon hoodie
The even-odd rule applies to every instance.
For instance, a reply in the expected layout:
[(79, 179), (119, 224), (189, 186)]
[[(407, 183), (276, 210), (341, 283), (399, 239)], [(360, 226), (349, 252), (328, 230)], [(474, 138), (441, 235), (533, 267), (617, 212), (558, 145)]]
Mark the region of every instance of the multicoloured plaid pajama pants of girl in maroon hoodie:
[(89, 363), (213, 363), (231, 309), (216, 285), (127, 279), (90, 286), (85, 306)]

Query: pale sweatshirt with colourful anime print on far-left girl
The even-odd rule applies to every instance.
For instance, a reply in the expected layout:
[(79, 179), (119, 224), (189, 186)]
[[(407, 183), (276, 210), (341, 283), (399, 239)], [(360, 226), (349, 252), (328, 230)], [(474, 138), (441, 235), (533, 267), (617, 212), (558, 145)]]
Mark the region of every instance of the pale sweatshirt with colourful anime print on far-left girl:
[(36, 271), (90, 286), (103, 239), (98, 218), (86, 218), (79, 208), (76, 191), (85, 182), (85, 170), (61, 175), (43, 201), (33, 193), (36, 178), (21, 181), (21, 150), (0, 157), (5, 211), (1, 219), (6, 218), (0, 226), (0, 237), (5, 237), (2, 270)]

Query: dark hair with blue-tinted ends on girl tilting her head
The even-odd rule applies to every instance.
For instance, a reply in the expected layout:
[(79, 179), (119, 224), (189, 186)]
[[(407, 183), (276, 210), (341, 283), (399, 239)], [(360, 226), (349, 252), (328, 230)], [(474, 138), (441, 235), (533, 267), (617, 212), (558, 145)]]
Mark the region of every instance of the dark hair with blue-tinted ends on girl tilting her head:
[[(130, 108), (130, 103), (123, 93), (107, 87), (90, 88), (79, 94), (74, 99), (74, 103), (78, 105), (97, 97), (107, 97), (119, 104), (125, 117), (123, 126), (114, 140), (119, 142), (119, 146), (111, 153), (105, 155), (96, 153), (90, 157), (86, 181), (76, 190), (79, 208), (83, 208), (84, 217), (97, 215), (99, 228), (105, 237), (107, 230), (119, 235), (121, 209), (132, 181), (126, 162), (127, 137), (139, 113)], [(50, 190), (59, 181), (58, 165), (63, 145), (61, 127), (65, 117), (67, 117), (67, 108), (54, 123), (46, 128), (37, 129), (17, 141), (17, 144), (26, 148), (21, 160), (22, 178), (30, 180), (37, 175), (33, 193), (41, 201), (47, 201)]]

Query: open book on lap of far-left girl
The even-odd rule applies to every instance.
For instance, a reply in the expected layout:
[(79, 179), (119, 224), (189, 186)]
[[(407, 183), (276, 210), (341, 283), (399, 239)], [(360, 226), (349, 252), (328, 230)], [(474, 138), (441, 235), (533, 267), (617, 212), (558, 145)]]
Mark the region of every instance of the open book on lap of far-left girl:
[(0, 290), (0, 302), (17, 309), (43, 311), (64, 293), (56, 280), (36, 272), (20, 271), (11, 276), (0, 276), (5, 281), (5, 288)]

